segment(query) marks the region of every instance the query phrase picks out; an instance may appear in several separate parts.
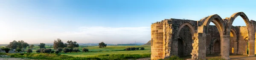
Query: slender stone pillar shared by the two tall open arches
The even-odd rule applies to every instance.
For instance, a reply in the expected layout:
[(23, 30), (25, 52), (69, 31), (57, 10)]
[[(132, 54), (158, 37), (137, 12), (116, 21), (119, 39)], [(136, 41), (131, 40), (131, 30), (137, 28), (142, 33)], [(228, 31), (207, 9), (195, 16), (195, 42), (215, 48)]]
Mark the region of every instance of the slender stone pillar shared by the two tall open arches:
[(221, 35), (221, 57), (230, 60), (230, 35)]

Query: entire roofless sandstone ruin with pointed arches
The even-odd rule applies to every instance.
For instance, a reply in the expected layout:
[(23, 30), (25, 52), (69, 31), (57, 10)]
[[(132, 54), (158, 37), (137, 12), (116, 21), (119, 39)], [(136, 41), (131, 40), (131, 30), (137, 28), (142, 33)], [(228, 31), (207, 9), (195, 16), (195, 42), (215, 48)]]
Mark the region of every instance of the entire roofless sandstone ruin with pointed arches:
[[(246, 26), (232, 25), (237, 16)], [(249, 21), (243, 12), (225, 19), (218, 14), (199, 21), (164, 19), (151, 25), (151, 60), (172, 55), (192, 56), (192, 60), (205, 60), (206, 55), (221, 55), (226, 60), (230, 55), (255, 56), (255, 27), (256, 21)]]

